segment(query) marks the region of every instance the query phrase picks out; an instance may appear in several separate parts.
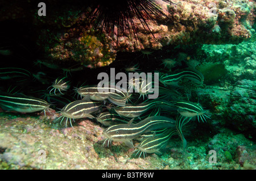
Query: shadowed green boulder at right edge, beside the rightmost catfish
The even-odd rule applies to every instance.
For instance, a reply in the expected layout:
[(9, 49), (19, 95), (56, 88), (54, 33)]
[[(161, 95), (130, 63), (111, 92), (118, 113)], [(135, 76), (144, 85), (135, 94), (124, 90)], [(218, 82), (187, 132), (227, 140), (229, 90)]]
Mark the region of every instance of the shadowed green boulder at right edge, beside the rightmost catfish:
[[(250, 89), (255, 81), (242, 80), (226, 88), (209, 86), (196, 90), (200, 102), (213, 110), (213, 127), (225, 125), (243, 132), (252, 138), (256, 128), (255, 121), (255, 90)], [(216, 121), (217, 120), (217, 121)]]

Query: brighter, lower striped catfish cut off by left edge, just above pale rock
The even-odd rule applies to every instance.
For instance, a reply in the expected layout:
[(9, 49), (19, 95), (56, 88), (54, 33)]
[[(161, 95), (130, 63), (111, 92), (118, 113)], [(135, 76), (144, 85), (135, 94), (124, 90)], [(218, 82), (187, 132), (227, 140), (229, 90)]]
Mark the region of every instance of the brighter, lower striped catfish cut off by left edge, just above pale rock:
[(6, 111), (17, 112), (36, 112), (44, 111), (50, 106), (45, 100), (34, 98), (32, 96), (9, 94), (6, 92), (0, 92), (0, 106)]

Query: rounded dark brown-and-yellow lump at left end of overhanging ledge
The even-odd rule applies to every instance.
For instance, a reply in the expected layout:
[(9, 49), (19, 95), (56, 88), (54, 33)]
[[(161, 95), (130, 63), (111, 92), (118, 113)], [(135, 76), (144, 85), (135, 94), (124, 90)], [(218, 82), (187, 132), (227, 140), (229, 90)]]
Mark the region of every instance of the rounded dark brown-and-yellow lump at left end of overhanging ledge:
[(48, 44), (46, 52), (53, 64), (80, 64), (96, 68), (109, 65), (115, 60), (116, 50), (111, 39), (88, 27), (70, 28), (63, 34), (52, 35), (57, 43)]

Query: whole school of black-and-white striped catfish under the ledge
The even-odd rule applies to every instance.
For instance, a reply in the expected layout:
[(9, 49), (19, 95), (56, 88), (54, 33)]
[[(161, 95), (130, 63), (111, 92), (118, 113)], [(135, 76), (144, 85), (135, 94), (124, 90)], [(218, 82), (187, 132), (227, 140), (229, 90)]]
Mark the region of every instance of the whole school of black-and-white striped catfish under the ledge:
[[(42, 81), (42, 74), (22, 68), (0, 68), (0, 81), (14, 79), (19, 85), (26, 85), (24, 82), (28, 79)], [(56, 77), (48, 89), (37, 94), (30, 91), (20, 93), (15, 85), (1, 90), (0, 107), (4, 111), (22, 113), (41, 111), (44, 115), (50, 107), (55, 110), (59, 108), (60, 116), (55, 121), (63, 127), (73, 127), (79, 119), (96, 121), (105, 128), (103, 145), (124, 142), (129, 148), (135, 148), (138, 157), (145, 157), (146, 153), (161, 154), (174, 135), (180, 137), (185, 149), (187, 141), (183, 133), (189, 127), (188, 123), (210, 119), (199, 103), (190, 102), (188, 98), (191, 89), (203, 85), (204, 76), (196, 69), (159, 73), (159, 85), (143, 83), (146, 80), (141, 77), (135, 81), (134, 77), (127, 80), (128, 89), (112, 84), (102, 88), (86, 85), (86, 82), (72, 88), (69, 77), (68, 74)], [(47, 82), (44, 84), (47, 85)], [(158, 98), (148, 99), (151, 94), (147, 91), (148, 85), (159, 90)], [(134, 140), (139, 141), (137, 146), (134, 146)]]

